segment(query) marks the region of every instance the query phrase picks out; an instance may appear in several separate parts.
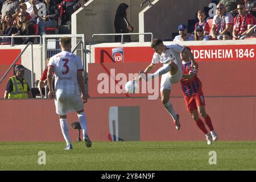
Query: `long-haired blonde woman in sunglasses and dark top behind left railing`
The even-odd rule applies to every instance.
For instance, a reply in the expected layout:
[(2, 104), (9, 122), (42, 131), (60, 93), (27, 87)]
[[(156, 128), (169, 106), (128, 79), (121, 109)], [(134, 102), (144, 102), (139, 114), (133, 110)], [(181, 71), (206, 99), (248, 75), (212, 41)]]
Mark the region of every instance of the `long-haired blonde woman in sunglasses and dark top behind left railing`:
[[(16, 24), (17, 32), (13, 36), (22, 36), (22, 35), (33, 35), (33, 29), (27, 20), (27, 16), (24, 12), (20, 12), (18, 15), (18, 22)], [(34, 38), (15, 38), (15, 44), (27, 44), (28, 42), (34, 42)]]

